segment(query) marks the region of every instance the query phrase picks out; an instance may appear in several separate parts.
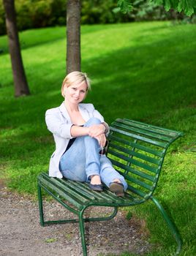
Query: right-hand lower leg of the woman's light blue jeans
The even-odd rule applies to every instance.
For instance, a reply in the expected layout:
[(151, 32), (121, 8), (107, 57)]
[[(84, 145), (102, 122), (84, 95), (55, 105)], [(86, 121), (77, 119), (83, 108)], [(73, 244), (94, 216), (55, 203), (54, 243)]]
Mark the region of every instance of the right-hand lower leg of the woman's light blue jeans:
[(110, 187), (110, 183), (113, 182), (114, 179), (118, 178), (119, 181), (124, 185), (124, 191), (127, 190), (127, 182), (124, 179), (124, 176), (121, 176), (112, 166), (110, 159), (105, 155), (100, 157), (101, 163), (101, 179), (105, 183), (107, 187)]

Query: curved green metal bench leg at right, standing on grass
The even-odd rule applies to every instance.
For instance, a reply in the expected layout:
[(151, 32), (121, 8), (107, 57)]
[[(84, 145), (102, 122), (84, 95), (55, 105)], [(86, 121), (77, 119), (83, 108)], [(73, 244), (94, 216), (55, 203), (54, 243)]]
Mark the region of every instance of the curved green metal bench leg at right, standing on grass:
[(173, 222), (171, 222), (171, 220), (168, 217), (165, 209), (162, 207), (162, 205), (159, 203), (159, 201), (154, 197), (151, 197), (151, 200), (155, 203), (155, 205), (157, 206), (157, 208), (161, 212), (162, 217), (165, 219), (165, 222), (167, 223), (167, 226), (170, 229), (170, 232), (173, 234), (173, 237), (176, 240), (176, 243), (178, 245), (178, 247), (176, 249), (176, 255), (178, 255), (181, 252), (181, 246), (182, 246), (182, 241), (181, 241), (180, 234), (178, 233), (178, 230), (176, 230), (175, 225), (173, 224)]

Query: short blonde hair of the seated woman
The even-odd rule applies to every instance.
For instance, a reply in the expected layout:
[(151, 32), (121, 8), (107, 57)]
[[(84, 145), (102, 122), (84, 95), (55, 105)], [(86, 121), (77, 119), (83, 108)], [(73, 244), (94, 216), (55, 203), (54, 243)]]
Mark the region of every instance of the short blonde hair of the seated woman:
[(62, 87), (61, 87), (61, 95), (64, 97), (64, 86), (69, 87), (73, 84), (80, 84), (83, 82), (86, 82), (86, 86), (88, 90), (91, 90), (91, 81), (86, 75), (86, 73), (80, 72), (80, 71), (73, 71), (70, 72), (63, 80)]

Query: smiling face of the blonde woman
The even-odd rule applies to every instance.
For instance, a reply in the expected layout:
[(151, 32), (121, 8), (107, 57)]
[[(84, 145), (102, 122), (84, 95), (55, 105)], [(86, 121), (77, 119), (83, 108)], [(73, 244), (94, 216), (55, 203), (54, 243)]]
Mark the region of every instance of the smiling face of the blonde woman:
[(71, 104), (78, 104), (86, 97), (87, 85), (86, 82), (73, 84), (72, 86), (64, 86), (64, 97), (66, 102)]

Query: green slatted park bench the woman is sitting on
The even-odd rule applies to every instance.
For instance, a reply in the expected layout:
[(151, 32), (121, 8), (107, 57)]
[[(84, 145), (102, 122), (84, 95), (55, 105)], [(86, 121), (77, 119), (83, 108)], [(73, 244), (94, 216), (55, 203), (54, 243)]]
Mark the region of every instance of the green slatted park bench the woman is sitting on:
[[(167, 148), (182, 135), (182, 132), (126, 118), (116, 119), (110, 126), (107, 156), (113, 163), (113, 167), (124, 176), (128, 183), (124, 197), (116, 197), (107, 187), (103, 192), (95, 192), (88, 188), (88, 183), (70, 181), (66, 178), (51, 178), (47, 173), (40, 173), (37, 180), (40, 224), (45, 226), (79, 222), (83, 255), (87, 255), (84, 222), (112, 219), (116, 216), (118, 207), (136, 206), (151, 200), (159, 209), (176, 239), (177, 255), (181, 251), (181, 237), (176, 225), (170, 220), (165, 209), (153, 194), (159, 181)], [(45, 221), (42, 189), (78, 217)], [(89, 206), (110, 206), (113, 207), (113, 213), (109, 217), (83, 217), (84, 211)]]

